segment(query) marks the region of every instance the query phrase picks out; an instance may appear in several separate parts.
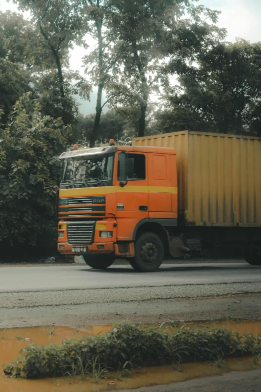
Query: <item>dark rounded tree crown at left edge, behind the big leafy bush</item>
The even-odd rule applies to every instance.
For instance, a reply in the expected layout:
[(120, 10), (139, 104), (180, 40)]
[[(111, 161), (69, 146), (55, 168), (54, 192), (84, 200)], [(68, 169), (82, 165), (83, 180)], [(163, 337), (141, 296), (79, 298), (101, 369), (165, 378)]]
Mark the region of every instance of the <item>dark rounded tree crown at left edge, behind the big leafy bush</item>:
[(32, 91), (32, 78), (20, 65), (0, 58), (0, 110), (1, 122), (7, 123), (8, 114), (23, 93)]

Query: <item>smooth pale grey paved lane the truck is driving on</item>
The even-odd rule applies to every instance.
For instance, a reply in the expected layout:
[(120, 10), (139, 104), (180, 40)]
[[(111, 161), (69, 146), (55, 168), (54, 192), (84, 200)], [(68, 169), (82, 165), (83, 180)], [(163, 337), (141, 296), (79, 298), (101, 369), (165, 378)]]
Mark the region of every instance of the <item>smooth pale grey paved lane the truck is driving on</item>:
[(128, 265), (112, 265), (105, 271), (74, 264), (0, 269), (0, 292), (249, 282), (261, 282), (261, 267), (247, 263), (162, 264), (153, 273), (136, 272)]

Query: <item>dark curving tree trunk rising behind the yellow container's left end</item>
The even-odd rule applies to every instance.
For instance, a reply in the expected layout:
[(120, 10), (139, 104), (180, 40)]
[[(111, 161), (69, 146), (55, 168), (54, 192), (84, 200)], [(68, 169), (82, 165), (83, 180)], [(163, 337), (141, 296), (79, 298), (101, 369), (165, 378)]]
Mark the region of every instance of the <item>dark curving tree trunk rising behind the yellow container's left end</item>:
[(140, 61), (140, 58), (138, 56), (137, 50), (136, 50), (136, 45), (133, 44), (134, 50), (133, 50), (133, 55), (134, 59), (136, 62), (136, 66), (138, 69), (139, 77), (140, 77), (140, 82), (141, 82), (141, 90), (143, 91), (142, 95), (142, 104), (140, 105), (140, 115), (138, 119), (138, 137), (144, 136), (144, 131), (145, 131), (145, 118), (146, 118), (146, 110), (147, 110), (147, 101), (149, 97), (149, 87), (147, 84), (147, 78), (145, 75), (145, 71), (143, 69), (142, 63)]

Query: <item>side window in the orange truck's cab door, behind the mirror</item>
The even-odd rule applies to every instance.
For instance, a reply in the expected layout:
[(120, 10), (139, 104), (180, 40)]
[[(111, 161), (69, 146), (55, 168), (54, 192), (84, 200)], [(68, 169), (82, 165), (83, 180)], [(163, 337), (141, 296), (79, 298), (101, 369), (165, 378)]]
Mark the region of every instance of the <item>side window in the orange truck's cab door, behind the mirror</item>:
[[(123, 175), (123, 159), (124, 154), (118, 155), (118, 173), (117, 173), (117, 180), (124, 181)], [(128, 181), (141, 181), (145, 180), (146, 178), (146, 165), (145, 165), (145, 155), (142, 154), (128, 154), (128, 158), (134, 159), (134, 170), (133, 170), (133, 177), (129, 178)]]

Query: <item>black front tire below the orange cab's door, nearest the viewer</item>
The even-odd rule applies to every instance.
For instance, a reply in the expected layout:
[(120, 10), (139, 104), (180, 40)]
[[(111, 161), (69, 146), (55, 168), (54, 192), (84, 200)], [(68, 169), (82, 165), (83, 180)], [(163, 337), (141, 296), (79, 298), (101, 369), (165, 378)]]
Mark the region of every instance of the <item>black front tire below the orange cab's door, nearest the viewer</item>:
[(135, 242), (135, 256), (129, 260), (130, 265), (140, 272), (154, 272), (162, 264), (164, 246), (158, 235), (143, 233)]

